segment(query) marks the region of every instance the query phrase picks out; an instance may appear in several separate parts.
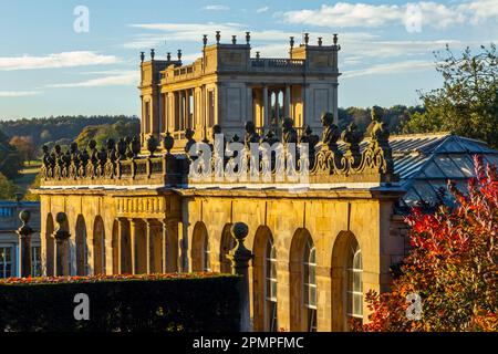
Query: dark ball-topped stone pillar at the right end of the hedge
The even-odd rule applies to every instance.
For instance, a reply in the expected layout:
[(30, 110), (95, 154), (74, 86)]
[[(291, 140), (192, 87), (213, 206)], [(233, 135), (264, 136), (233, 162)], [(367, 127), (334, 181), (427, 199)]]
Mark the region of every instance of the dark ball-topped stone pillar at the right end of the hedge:
[(243, 241), (249, 233), (249, 227), (243, 222), (236, 222), (230, 229), (231, 236), (237, 240), (237, 247), (230, 251), (229, 259), (234, 273), (241, 277), (240, 280), (240, 332), (249, 332), (250, 325), (250, 299), (249, 299), (249, 261), (253, 258)]

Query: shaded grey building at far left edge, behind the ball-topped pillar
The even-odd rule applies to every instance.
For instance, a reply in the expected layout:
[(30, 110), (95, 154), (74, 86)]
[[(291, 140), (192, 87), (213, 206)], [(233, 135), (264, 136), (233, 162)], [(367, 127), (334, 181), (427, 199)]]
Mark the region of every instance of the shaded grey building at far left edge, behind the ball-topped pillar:
[(31, 274), (42, 274), (40, 244), (40, 204), (34, 201), (0, 201), (0, 278), (20, 277), (19, 236), (21, 226), (19, 212), (29, 210), (31, 226), (35, 230), (31, 241)]

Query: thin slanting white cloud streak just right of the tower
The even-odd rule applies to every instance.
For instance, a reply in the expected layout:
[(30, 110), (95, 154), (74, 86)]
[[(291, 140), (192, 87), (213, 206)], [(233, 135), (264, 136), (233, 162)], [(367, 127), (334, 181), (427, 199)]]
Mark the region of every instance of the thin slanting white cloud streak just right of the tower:
[(365, 69), (351, 70), (343, 73), (342, 77), (357, 77), (366, 75), (398, 74), (403, 72), (414, 72), (434, 70), (434, 62), (424, 60), (406, 60), (395, 63), (376, 64)]

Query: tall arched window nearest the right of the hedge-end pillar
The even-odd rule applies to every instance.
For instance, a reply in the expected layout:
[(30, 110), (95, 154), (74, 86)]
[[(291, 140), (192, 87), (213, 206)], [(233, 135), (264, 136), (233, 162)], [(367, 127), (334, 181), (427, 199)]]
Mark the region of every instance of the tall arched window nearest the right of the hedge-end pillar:
[(264, 260), (266, 268), (266, 316), (268, 323), (268, 330), (270, 332), (277, 332), (278, 317), (277, 317), (277, 250), (271, 239), (268, 239), (267, 253)]

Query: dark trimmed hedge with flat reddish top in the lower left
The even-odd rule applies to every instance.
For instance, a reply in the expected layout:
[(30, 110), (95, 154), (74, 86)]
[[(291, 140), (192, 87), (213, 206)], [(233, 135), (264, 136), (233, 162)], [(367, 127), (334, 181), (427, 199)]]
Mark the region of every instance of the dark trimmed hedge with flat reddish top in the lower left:
[[(234, 332), (240, 279), (217, 274), (95, 277), (0, 282), (0, 332)], [(76, 321), (77, 293), (90, 320)]]

